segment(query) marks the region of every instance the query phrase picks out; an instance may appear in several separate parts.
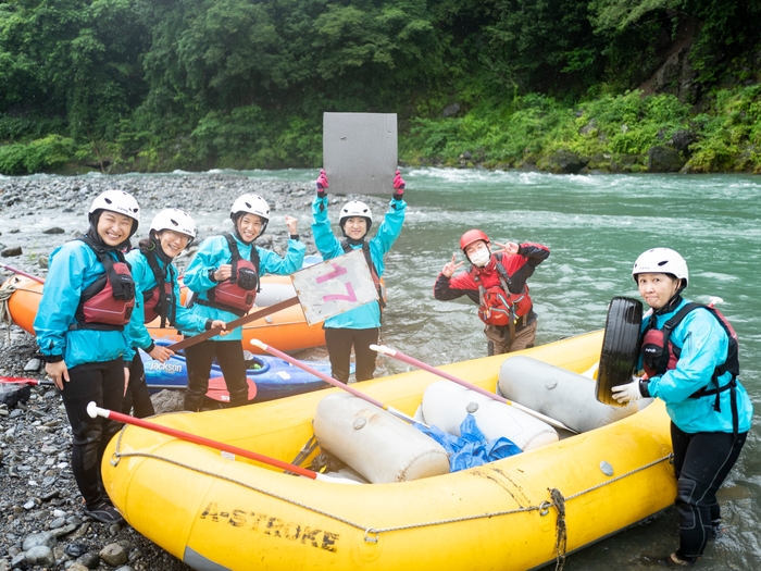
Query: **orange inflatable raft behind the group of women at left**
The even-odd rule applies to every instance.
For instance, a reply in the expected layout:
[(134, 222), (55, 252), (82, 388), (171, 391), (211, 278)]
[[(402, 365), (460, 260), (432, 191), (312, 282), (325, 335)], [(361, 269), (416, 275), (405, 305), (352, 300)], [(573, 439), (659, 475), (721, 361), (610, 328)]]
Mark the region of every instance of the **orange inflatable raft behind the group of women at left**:
[[(16, 325), (34, 335), (33, 323), (37, 314), (39, 300), (42, 297), (42, 284), (28, 277), (15, 275), (8, 280), (2, 287), (15, 288), (15, 291), (8, 299), (9, 312)], [(184, 299), (187, 288), (182, 288), (182, 291)], [(266, 275), (262, 277), (262, 290), (257, 296), (255, 307), (271, 306), (295, 295), (296, 293), (288, 276)], [(154, 339), (182, 339), (182, 335), (176, 330), (159, 327), (158, 319), (148, 324), (148, 331)], [(261, 339), (265, 344), (277, 347), (283, 351), (298, 351), (325, 345), (325, 333), (322, 324), (310, 325), (307, 323), (299, 305), (244, 325), (244, 349), (254, 350), (249, 343), (254, 338)], [(255, 352), (259, 351), (257, 350)]]

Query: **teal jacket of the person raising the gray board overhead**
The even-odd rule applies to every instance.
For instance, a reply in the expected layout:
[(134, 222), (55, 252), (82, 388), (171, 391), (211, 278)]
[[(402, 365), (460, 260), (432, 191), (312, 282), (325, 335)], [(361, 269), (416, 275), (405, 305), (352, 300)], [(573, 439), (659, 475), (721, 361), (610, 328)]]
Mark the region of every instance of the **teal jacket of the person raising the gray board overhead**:
[[(320, 250), (323, 260), (337, 258), (346, 253), (341, 243), (333, 234), (330, 222), (327, 220), (328, 197), (314, 197), (312, 202), (312, 234), (314, 244)], [(380, 227), (375, 236), (369, 241), (370, 259), (373, 260), (375, 270), (380, 277), (384, 273), (385, 264), (383, 257), (391, 249), (394, 243), (401, 233), (404, 223), (404, 211), (407, 202), (404, 200), (391, 199), (389, 209), (380, 223)], [(353, 249), (362, 248), (361, 245), (352, 246)], [(334, 315), (325, 320), (324, 327), (347, 328), (347, 330), (370, 330), (380, 326), (380, 306), (377, 301), (365, 303), (339, 315)]]

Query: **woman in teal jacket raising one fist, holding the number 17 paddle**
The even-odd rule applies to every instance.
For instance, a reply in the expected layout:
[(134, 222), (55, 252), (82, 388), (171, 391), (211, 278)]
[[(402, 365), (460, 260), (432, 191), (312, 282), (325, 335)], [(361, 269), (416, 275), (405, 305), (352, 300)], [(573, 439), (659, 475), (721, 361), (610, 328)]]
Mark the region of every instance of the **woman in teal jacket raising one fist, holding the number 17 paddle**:
[[(253, 244), (270, 221), (270, 207), (258, 195), (238, 197), (230, 209), (230, 219), (233, 234), (203, 240), (185, 272), (185, 285), (195, 293), (190, 312), (226, 323), (251, 309), (262, 275), (292, 274), (303, 264), (305, 251), (297, 234), (297, 220), (292, 216), (285, 218), (289, 233), (285, 259)], [(195, 334), (194, 331), (182, 331), (187, 336)], [(215, 357), (227, 384), (230, 405), (248, 404), (246, 361), (240, 344), (242, 337), (242, 327), (236, 327), (224, 339), (216, 336), (185, 349), (188, 368), (185, 410), (197, 411), (201, 408)]]

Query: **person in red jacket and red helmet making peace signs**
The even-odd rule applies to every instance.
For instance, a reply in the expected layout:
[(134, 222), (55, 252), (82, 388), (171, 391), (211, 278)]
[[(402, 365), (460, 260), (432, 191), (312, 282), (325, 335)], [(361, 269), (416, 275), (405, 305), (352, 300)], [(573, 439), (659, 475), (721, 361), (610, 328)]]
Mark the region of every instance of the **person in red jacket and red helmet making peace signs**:
[(550, 255), (549, 248), (540, 244), (495, 245), (501, 249), (492, 252), (484, 232), (467, 231), (460, 238), (460, 249), (471, 262), (470, 271), (452, 277), (465, 263), (457, 262), (453, 253), (434, 285), (436, 299), (467, 296), (478, 303), (490, 356), (534, 347), (537, 319), (526, 280)]

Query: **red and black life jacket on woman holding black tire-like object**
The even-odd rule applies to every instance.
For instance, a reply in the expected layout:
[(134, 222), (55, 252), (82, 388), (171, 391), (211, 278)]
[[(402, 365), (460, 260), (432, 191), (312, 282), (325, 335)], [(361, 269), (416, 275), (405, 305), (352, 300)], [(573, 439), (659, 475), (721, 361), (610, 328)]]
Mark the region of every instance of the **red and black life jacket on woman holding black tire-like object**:
[[(676, 369), (676, 362), (679, 360), (679, 356), (682, 355), (682, 348), (671, 343), (671, 332), (674, 331), (674, 327), (682, 323), (682, 320), (685, 319), (689, 312), (695, 311), (698, 308), (703, 308), (710, 311), (722, 327), (724, 327), (724, 331), (729, 338), (729, 346), (727, 348), (726, 360), (714, 369), (708, 386), (691, 394), (689, 398), (702, 398), (715, 395), (713, 410), (721, 412), (720, 394), (724, 390), (732, 390), (732, 422), (733, 431), (736, 435), (738, 430), (738, 415), (735, 387), (737, 386), (737, 376), (740, 374), (739, 340), (737, 338), (737, 333), (735, 333), (735, 328), (716, 308), (713, 306), (703, 306), (702, 303), (685, 303), (684, 307), (669, 321), (666, 321), (663, 324), (663, 327), (660, 330), (656, 328), (656, 316), (650, 315), (648, 328), (645, 330), (641, 338), (643, 367), (649, 377), (662, 375), (669, 370)], [(732, 374), (732, 378), (727, 384), (719, 386), (719, 377), (727, 371)]]

